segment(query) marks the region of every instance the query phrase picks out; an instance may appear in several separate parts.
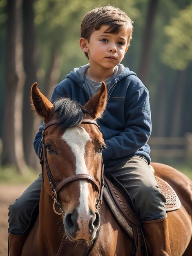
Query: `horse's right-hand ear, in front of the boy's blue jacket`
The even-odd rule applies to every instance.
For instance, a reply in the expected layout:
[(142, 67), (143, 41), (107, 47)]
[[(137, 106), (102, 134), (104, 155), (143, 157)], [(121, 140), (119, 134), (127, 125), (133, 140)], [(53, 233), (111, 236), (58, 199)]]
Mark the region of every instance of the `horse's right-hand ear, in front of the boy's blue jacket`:
[(107, 105), (107, 87), (105, 82), (102, 82), (100, 89), (94, 96), (85, 104), (85, 109), (92, 114), (94, 118), (100, 118)]

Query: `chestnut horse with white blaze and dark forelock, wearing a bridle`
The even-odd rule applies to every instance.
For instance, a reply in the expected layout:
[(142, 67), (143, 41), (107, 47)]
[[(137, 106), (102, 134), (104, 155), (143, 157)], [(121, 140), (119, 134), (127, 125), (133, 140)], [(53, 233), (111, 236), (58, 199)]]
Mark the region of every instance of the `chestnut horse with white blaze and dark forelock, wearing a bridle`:
[[(39, 214), (22, 256), (133, 255), (134, 240), (114, 218), (105, 199), (102, 202), (105, 141), (96, 119), (102, 117), (107, 104), (105, 83), (85, 106), (65, 98), (53, 105), (37, 83), (31, 88), (31, 101), (45, 123), (40, 156), (43, 178)], [(167, 213), (172, 256), (189, 256), (192, 182), (170, 166), (152, 166), (181, 201), (180, 209)]]

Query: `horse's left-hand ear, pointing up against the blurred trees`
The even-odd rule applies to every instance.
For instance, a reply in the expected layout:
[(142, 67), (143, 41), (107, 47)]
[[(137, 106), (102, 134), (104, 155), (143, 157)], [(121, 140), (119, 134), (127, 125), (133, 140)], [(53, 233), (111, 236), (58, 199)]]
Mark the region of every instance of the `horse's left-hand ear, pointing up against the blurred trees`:
[(49, 101), (38, 89), (37, 83), (34, 83), (31, 87), (31, 104), (38, 115), (44, 119), (47, 119), (54, 109), (51, 101)]

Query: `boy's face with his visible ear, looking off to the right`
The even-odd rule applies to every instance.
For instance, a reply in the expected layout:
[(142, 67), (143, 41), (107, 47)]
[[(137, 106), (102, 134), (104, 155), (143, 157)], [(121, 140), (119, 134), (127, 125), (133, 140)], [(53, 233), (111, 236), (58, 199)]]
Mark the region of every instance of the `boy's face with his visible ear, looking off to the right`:
[(95, 30), (89, 42), (80, 38), (80, 47), (87, 52), (90, 67), (114, 71), (114, 67), (122, 61), (128, 49), (127, 31), (122, 29), (118, 34), (105, 33), (107, 28), (107, 25), (102, 25), (99, 30)]

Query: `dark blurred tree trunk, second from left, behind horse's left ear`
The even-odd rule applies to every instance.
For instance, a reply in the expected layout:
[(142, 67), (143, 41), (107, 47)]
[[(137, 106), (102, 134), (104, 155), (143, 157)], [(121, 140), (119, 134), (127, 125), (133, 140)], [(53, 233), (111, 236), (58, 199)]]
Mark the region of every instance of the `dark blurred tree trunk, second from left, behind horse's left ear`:
[(33, 149), (33, 139), (38, 131), (40, 119), (35, 118), (30, 104), (31, 85), (37, 82), (38, 51), (36, 40), (36, 27), (34, 24), (34, 4), (35, 0), (22, 3), (23, 11), (23, 55), (24, 69), (26, 73), (25, 89), (23, 97), (23, 140), (25, 161), (27, 165), (34, 169), (39, 166), (38, 158)]

